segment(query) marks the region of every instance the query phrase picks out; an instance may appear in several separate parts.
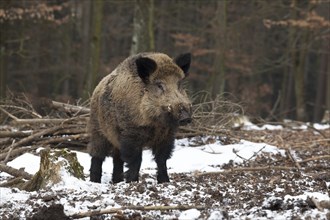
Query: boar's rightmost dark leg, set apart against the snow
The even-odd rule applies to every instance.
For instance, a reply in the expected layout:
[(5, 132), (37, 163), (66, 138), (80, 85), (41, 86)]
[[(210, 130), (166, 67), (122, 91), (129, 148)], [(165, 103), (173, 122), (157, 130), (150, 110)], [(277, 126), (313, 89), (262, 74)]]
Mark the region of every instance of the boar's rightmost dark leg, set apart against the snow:
[(167, 174), (166, 161), (172, 155), (174, 148), (174, 140), (170, 143), (162, 143), (159, 146), (153, 147), (153, 154), (157, 163), (157, 181), (158, 183), (169, 182), (170, 179)]

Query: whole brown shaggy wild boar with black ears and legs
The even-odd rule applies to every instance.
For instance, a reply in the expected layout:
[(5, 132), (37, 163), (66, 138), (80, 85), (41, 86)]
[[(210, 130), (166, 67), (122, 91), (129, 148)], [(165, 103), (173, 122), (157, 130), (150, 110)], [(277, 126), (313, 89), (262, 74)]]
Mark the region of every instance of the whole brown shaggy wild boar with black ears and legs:
[(150, 147), (158, 183), (169, 182), (166, 161), (174, 148), (175, 132), (192, 120), (191, 102), (182, 86), (190, 62), (190, 53), (175, 59), (140, 53), (101, 80), (91, 98), (88, 123), (91, 181), (101, 182), (106, 156), (113, 157), (113, 183), (124, 178), (138, 181), (142, 150)]

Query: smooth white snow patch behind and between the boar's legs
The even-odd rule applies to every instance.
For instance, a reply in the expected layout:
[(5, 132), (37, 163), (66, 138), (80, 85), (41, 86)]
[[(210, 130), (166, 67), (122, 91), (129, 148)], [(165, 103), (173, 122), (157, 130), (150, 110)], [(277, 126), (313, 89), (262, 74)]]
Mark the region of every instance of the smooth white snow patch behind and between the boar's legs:
[[(280, 150), (277, 147), (264, 143), (252, 143), (245, 140), (242, 140), (237, 144), (224, 146), (219, 142), (201, 147), (189, 147), (188, 145), (189, 140), (187, 138), (176, 140), (176, 147), (173, 156), (167, 161), (169, 173), (219, 171), (219, 168), (216, 167), (226, 164), (231, 160), (235, 163), (242, 163), (242, 158), (249, 159), (261, 152), (272, 154), (280, 153), (285, 155), (285, 151)], [(76, 153), (79, 163), (84, 167), (84, 173), (88, 175), (91, 157), (86, 153)], [(157, 166), (152, 151), (144, 150), (142, 157), (141, 173), (155, 175), (157, 172)], [(112, 169), (112, 158), (107, 157), (102, 165), (102, 183), (108, 183), (111, 181)]]

